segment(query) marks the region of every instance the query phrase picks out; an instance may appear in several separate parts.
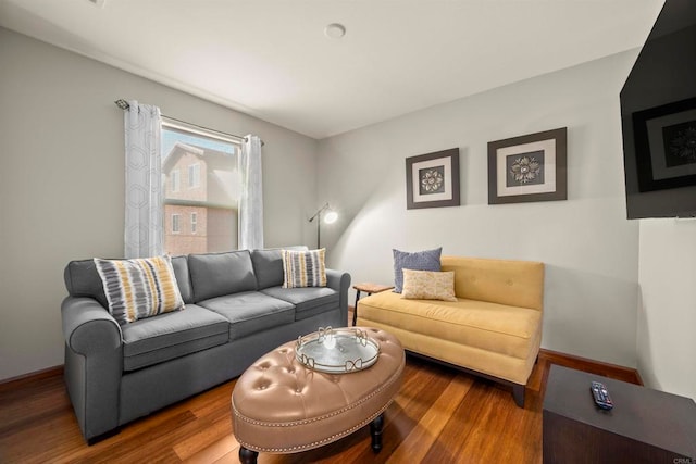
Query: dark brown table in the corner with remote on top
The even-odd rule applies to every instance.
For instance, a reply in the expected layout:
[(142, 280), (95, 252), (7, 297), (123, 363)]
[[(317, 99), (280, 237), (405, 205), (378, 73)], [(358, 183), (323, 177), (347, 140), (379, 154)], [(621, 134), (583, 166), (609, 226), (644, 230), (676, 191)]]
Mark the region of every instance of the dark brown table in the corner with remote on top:
[[(607, 386), (611, 411), (595, 405), (592, 380)], [(542, 421), (544, 464), (696, 462), (691, 398), (554, 365)]]

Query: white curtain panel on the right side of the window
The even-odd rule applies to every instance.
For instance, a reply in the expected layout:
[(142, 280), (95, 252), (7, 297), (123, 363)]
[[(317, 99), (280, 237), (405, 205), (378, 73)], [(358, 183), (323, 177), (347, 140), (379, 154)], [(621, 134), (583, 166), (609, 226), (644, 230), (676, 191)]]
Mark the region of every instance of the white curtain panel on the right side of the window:
[(263, 248), (263, 184), (261, 181), (261, 139), (245, 137), (239, 156), (241, 195), (239, 198), (239, 249)]

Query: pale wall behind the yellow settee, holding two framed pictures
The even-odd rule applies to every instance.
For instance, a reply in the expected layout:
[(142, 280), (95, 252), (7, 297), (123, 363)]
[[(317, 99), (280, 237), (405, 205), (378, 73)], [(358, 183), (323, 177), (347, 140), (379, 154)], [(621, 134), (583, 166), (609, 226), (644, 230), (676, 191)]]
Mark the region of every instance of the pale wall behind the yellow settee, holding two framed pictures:
[[(325, 227), (330, 265), (353, 281), (390, 283), (393, 248), (543, 261), (543, 347), (635, 366), (638, 224), (625, 218), (619, 91), (636, 55), (320, 141), (319, 197), (341, 213)], [(563, 126), (568, 201), (488, 205), (487, 142)], [(407, 210), (405, 159), (453, 147), (462, 205)]]

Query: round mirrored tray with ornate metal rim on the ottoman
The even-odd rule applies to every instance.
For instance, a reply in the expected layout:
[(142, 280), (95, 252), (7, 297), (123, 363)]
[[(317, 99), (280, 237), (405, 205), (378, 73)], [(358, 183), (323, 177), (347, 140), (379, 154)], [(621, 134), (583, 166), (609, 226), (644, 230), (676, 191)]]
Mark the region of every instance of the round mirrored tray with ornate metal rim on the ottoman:
[(380, 344), (359, 328), (320, 327), (297, 339), (295, 358), (304, 366), (330, 374), (365, 369), (377, 361)]

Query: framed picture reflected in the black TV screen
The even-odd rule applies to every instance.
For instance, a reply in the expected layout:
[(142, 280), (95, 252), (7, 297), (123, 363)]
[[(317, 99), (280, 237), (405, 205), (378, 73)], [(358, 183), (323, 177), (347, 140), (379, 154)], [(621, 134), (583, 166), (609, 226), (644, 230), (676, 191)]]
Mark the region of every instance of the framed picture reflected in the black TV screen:
[(696, 185), (696, 98), (633, 113), (641, 191)]

